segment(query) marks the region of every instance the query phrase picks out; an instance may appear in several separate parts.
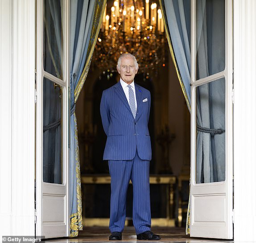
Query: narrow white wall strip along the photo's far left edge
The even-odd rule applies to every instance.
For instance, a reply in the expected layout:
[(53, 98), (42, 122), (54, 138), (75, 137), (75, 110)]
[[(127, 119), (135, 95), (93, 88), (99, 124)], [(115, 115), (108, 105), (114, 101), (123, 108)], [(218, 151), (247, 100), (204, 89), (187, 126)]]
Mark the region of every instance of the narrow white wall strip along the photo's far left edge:
[[(12, 1), (0, 1), (0, 231), (9, 231), (12, 188)], [(3, 220), (2, 220), (3, 219)]]

